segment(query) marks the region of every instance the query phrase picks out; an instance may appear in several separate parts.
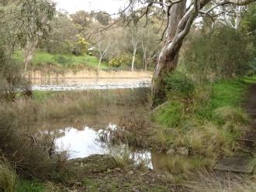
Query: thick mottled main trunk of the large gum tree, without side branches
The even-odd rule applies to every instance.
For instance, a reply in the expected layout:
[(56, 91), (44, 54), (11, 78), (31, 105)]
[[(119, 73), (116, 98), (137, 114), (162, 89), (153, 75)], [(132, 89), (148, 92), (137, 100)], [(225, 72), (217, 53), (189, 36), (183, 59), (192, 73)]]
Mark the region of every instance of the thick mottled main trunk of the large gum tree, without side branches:
[[(166, 94), (164, 91), (164, 76), (175, 69), (178, 63), (178, 53), (182, 46), (182, 41), (173, 42), (177, 35), (178, 24), (186, 12), (186, 1), (172, 5), (169, 11), (168, 29), (166, 31), (164, 46), (157, 60), (152, 80), (152, 94), (154, 96), (153, 105), (158, 105), (159, 101), (164, 101)], [(170, 43), (175, 43), (170, 46)]]

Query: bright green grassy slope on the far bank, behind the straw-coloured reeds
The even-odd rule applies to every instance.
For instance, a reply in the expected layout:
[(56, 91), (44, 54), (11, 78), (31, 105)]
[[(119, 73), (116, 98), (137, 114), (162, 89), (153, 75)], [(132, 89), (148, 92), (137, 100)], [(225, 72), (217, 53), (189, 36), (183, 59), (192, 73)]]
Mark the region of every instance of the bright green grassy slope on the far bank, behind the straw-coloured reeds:
[[(65, 64), (85, 64), (87, 67), (98, 67), (99, 59), (97, 57), (82, 55), (82, 56), (74, 56), (72, 54), (51, 54), (42, 50), (37, 50), (32, 63), (33, 66), (36, 66), (38, 63), (57, 63), (56, 57), (64, 57), (67, 60), (67, 63), (58, 63), (61, 65)], [(13, 58), (19, 62), (23, 62), (24, 57), (21, 50), (15, 52)], [(108, 64), (106, 62), (101, 63), (101, 69), (108, 68)]]

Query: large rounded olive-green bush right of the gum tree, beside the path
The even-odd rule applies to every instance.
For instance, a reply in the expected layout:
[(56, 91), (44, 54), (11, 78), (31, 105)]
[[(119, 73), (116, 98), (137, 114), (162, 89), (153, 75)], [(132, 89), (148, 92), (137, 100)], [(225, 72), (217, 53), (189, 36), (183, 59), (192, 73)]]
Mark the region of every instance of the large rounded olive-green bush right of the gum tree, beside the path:
[(184, 53), (187, 70), (200, 81), (244, 75), (253, 53), (246, 33), (219, 26), (209, 33), (193, 36)]

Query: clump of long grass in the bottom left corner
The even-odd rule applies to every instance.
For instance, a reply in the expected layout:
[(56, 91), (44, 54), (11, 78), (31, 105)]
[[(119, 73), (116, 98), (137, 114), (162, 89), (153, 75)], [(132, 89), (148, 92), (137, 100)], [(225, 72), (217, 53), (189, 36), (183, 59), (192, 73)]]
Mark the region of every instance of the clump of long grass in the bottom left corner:
[(17, 177), (9, 163), (0, 160), (0, 190), (3, 192), (16, 192)]

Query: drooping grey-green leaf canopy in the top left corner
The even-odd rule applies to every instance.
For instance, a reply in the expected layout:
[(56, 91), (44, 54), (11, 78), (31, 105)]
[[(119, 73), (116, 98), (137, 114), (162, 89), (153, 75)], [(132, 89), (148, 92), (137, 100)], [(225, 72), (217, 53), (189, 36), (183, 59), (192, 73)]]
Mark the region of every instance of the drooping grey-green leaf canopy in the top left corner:
[[(54, 17), (55, 5), (47, 0), (9, 0), (0, 2), (0, 38), (2, 46), (13, 50), (26, 46), (39, 35), (46, 39)], [(7, 48), (7, 47), (6, 47)]]

